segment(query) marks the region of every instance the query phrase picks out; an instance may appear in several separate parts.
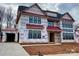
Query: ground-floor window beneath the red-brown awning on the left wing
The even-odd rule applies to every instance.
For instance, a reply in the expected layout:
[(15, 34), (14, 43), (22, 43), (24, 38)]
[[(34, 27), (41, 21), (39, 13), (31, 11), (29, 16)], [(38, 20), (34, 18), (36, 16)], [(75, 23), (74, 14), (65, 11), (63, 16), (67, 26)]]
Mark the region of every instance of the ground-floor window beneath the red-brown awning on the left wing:
[(29, 30), (28, 38), (29, 39), (41, 39), (41, 31)]

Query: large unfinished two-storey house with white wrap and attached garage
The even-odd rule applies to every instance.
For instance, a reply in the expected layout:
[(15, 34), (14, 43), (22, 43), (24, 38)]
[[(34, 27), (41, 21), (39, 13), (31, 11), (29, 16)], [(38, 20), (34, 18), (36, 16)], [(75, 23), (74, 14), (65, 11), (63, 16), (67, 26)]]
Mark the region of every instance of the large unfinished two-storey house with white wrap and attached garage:
[(3, 37), (3, 42), (10, 41), (8, 39), (19, 43), (75, 42), (73, 23), (69, 13), (42, 10), (37, 4), (19, 6), (16, 28), (5, 31), (7, 38)]

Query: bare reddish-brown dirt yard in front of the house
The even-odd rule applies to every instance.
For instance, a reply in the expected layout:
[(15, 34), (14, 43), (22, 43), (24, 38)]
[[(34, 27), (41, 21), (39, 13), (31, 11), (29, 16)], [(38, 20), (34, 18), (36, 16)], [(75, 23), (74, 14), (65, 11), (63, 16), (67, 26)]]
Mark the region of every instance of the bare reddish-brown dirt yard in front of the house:
[[(25, 44), (21, 44), (25, 45)], [(31, 45), (31, 46), (30, 46)], [(65, 54), (65, 53), (79, 53), (79, 44), (77, 43), (62, 43), (61, 45), (40, 45), (28, 44), (23, 48), (30, 55), (48, 55), (48, 54)]]

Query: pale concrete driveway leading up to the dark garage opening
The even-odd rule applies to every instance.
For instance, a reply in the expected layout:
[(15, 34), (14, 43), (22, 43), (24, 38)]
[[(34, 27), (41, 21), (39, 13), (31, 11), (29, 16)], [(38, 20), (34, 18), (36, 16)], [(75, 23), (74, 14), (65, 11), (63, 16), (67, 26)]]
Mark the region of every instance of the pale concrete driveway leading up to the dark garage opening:
[(29, 56), (18, 43), (0, 43), (0, 56)]

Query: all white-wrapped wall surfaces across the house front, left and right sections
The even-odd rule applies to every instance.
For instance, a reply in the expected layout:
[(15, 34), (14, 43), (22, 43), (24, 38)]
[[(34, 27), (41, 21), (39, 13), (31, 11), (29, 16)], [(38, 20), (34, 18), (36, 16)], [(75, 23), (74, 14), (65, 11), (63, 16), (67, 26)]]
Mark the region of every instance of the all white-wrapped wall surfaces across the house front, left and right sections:
[[(60, 22), (55, 22), (54, 26), (58, 26), (61, 29), (63, 29), (62, 23), (63, 23), (62, 20)], [(47, 32), (48, 21), (47, 21), (46, 18), (41, 18), (41, 24), (40, 25), (44, 26), (44, 28), (42, 30), (39, 29), (41, 31), (41, 39), (28, 39), (28, 32), (29, 32), (30, 29), (27, 29), (26, 24), (29, 24), (29, 16), (28, 15), (22, 15), (20, 17), (20, 21), (18, 23), (18, 32), (20, 33), (20, 36), (19, 36), (19, 42), (20, 43), (21, 42), (27, 42), (27, 43), (28, 42), (31, 42), (31, 43), (49, 42), (48, 32)], [(74, 33), (74, 27), (72, 29), (73, 29), (73, 33)], [(31, 30), (34, 30), (34, 29), (31, 29)], [(35, 30), (38, 30), (38, 29), (35, 29)], [(75, 42), (75, 40), (64, 40), (63, 39), (63, 32), (64, 31), (62, 31), (61, 33), (55, 33), (55, 43), (58, 43), (58, 42)], [(61, 40), (59, 40), (59, 39), (61, 39)]]

